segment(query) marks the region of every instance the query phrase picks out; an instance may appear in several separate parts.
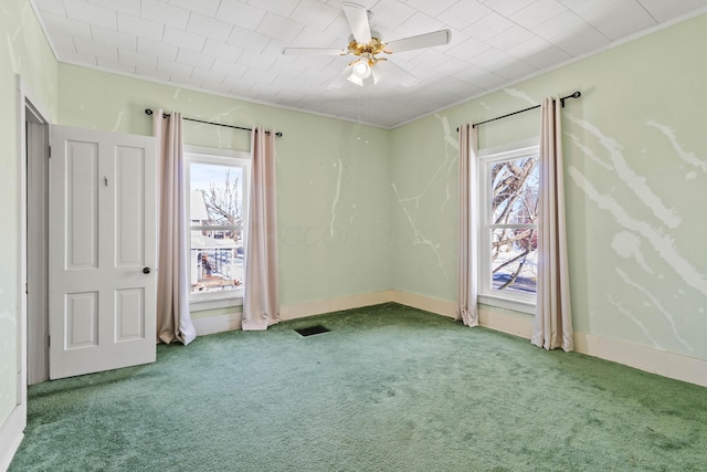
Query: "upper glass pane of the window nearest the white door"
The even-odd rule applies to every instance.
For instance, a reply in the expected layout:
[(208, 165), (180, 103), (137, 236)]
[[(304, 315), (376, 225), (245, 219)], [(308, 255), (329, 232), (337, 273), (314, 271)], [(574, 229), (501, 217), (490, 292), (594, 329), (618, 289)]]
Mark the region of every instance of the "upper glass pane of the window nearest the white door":
[(190, 220), (192, 225), (243, 224), (243, 169), (191, 162)]

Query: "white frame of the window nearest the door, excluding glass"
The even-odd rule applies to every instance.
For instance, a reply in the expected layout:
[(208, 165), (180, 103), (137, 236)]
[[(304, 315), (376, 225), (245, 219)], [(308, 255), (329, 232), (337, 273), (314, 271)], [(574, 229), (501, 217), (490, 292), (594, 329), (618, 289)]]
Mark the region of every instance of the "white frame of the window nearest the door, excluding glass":
[[(219, 149), (202, 146), (184, 145), (184, 196), (186, 196), (186, 210), (187, 210), (187, 234), (188, 241), (191, 241), (191, 231), (193, 230), (210, 230), (210, 229), (234, 229), (243, 232), (243, 245), (247, 244), (247, 221), (249, 221), (249, 197), (251, 187), (251, 154), (242, 150), (234, 149)], [(191, 164), (214, 164), (228, 167), (242, 168), (242, 185), (243, 185), (243, 225), (192, 225), (191, 224)], [(188, 244), (189, 254), (188, 260), (191, 264), (191, 242)], [(245, 255), (245, 254), (244, 254)], [(245, 262), (244, 262), (245, 264)], [(245, 270), (245, 265), (244, 265)], [(191, 312), (200, 312), (205, 310), (215, 308), (229, 308), (243, 305), (243, 291), (244, 286), (232, 291), (224, 292), (208, 292), (201, 294), (194, 294), (191, 292), (191, 268), (189, 268), (189, 308)]]

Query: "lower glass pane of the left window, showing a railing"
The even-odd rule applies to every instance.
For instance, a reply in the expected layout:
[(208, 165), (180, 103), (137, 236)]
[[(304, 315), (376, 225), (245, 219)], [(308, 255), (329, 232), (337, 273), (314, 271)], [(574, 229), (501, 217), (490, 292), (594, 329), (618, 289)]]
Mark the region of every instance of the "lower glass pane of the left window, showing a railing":
[[(222, 238), (213, 238), (221, 233)], [(243, 287), (243, 232), (191, 231), (191, 292)]]

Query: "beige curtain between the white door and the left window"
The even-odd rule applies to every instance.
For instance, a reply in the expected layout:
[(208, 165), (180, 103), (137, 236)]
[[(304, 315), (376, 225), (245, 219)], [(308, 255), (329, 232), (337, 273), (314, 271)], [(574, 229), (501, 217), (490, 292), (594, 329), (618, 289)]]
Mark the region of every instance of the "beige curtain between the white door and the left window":
[(184, 189), (181, 114), (152, 115), (159, 160), (157, 340), (187, 345), (197, 337), (189, 315), (189, 235)]

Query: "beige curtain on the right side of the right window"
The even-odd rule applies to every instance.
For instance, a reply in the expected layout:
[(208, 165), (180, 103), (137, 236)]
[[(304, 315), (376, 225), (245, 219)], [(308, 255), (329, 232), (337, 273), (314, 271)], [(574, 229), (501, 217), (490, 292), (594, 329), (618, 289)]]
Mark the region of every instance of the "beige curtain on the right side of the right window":
[(572, 350), (572, 313), (564, 231), (564, 182), (560, 99), (545, 98), (540, 128), (538, 304), (532, 344)]

